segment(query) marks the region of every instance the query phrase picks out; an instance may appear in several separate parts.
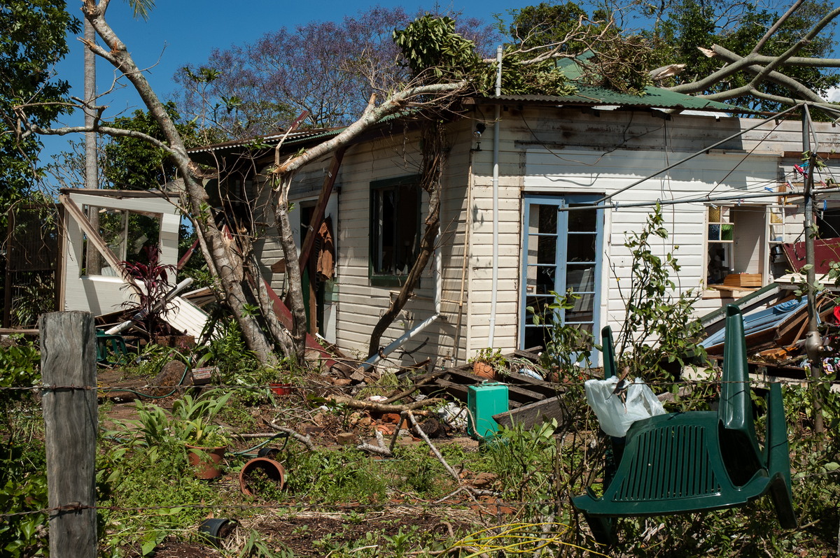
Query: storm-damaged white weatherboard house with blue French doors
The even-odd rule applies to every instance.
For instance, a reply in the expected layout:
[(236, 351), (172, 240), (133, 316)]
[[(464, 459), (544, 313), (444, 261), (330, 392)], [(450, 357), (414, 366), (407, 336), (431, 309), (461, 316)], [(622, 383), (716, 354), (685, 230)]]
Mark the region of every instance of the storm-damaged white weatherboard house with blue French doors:
[[(631, 263), (624, 242), (641, 230), (656, 201), (664, 204), (669, 230), (661, 250), (679, 247), (680, 289), (703, 289), (698, 314), (749, 292), (708, 286), (727, 274), (768, 284), (785, 273), (779, 243), (801, 239), (803, 222), (802, 197), (784, 194), (802, 188), (795, 168), (803, 151), (798, 117), (755, 128), (760, 118), (728, 116), (726, 106), (690, 96), (585, 89), (570, 97), (470, 99), (447, 125), (439, 248), (383, 336), (386, 345), (408, 335), (389, 355), (392, 364), (432, 358), (454, 365), (482, 347), (539, 345), (541, 331), (527, 309), (567, 288), (580, 300), (564, 311), (565, 321), (590, 331), (620, 326), (620, 286), (629, 282)], [(291, 133), (282, 149), (294, 153), (336, 133)], [(830, 154), (840, 133), (817, 123), (816, 138), (828, 165), (816, 177), (822, 188), (830, 186), (827, 176), (837, 164)], [(325, 211), (334, 263), (318, 269), (309, 304), (310, 316), (318, 316), (312, 329), (345, 352), (366, 356), (370, 332), (396, 295), (422, 233), (428, 204), (417, 185), (419, 143), (411, 123), (381, 123), (348, 147), (335, 177)], [(244, 145), (209, 146), (192, 156), (224, 161), (229, 169), (231, 160), (255, 154)], [(255, 229), (255, 251), (265, 279), (281, 292), (283, 254), (268, 204), (274, 194), (265, 182), (274, 154), (257, 155), (253, 167), (243, 166), (255, 172), (228, 175), (222, 190), (231, 211), (247, 206), (263, 223)], [(696, 156), (669, 168), (690, 155)], [(291, 221), (298, 241), (332, 164), (327, 157), (297, 175)], [(599, 208), (590, 206), (607, 196)], [(819, 196), (823, 229), (840, 229), (836, 196)], [(666, 205), (672, 201), (680, 203)]]

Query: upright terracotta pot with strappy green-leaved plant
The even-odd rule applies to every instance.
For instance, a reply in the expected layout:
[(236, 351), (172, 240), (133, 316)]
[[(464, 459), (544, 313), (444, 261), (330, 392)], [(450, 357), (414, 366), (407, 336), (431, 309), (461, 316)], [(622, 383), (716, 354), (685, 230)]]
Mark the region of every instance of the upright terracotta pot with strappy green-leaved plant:
[(187, 458), (199, 478), (222, 474), (221, 462), (230, 441), (223, 427), (213, 424), (213, 419), (228, 403), (230, 395), (207, 392), (193, 399), (186, 394), (172, 404), (173, 430), (184, 442)]

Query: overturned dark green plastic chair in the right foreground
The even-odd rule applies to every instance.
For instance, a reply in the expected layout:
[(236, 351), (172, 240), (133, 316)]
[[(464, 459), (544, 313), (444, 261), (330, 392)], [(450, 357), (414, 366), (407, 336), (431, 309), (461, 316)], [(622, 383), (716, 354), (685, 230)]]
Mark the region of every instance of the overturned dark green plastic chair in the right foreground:
[[(779, 522), (797, 526), (790, 493), (785, 409), (779, 383), (771, 383), (767, 437), (759, 449), (753, 425), (743, 319), (727, 305), (723, 383), (716, 411), (691, 411), (638, 420), (613, 439), (603, 495), (591, 488), (574, 498), (596, 541), (616, 542), (620, 517), (683, 514), (743, 506), (769, 493)], [(603, 336), (604, 376), (616, 373), (612, 331)], [(622, 443), (623, 442), (623, 443)]]

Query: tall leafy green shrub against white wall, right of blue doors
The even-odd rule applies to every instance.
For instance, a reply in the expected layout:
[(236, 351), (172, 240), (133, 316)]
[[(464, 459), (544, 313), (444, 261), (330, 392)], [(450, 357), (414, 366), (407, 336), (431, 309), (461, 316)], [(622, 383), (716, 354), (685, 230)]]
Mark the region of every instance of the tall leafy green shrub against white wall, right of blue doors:
[(629, 367), (633, 375), (648, 379), (670, 377), (668, 363), (682, 368), (690, 360), (705, 361), (706, 357), (700, 346), (703, 327), (693, 316), (700, 294), (691, 289), (677, 293), (671, 273), (678, 274), (680, 265), (672, 252), (664, 258), (655, 254), (656, 239), (668, 239), (659, 204), (640, 232), (627, 235), (624, 246), (632, 258), (630, 285), (622, 288), (619, 281), (627, 313), (616, 343), (618, 368)]

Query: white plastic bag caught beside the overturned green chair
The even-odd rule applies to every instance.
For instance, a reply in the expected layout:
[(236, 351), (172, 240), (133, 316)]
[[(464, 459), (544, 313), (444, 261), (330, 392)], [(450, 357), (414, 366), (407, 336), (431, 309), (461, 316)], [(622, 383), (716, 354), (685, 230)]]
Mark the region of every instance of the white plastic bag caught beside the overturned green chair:
[[(616, 393), (618, 378), (586, 380), (586, 401), (598, 417), (598, 424), (606, 435), (622, 438), (637, 420), (664, 415), (665, 409), (654, 392), (641, 379), (627, 386), (627, 393)], [(619, 390), (621, 391), (621, 390)]]

